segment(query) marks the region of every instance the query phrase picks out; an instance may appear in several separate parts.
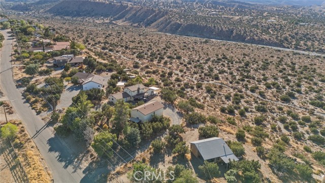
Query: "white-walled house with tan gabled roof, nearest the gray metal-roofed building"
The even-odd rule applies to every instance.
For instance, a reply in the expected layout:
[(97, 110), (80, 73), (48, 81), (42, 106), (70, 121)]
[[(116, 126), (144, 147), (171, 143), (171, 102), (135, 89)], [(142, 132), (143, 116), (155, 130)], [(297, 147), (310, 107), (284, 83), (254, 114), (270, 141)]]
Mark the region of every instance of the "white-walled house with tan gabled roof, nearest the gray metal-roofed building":
[(162, 116), (164, 114), (164, 105), (158, 101), (150, 101), (146, 104), (133, 108), (130, 120), (138, 122), (139, 120), (150, 121), (153, 115)]

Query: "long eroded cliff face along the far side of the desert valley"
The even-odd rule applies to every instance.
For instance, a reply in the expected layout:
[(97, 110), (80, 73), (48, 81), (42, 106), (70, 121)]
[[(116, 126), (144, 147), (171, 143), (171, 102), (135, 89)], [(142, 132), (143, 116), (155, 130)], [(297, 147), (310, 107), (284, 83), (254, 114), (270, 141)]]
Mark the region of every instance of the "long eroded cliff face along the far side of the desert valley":
[(269, 38), (253, 37), (253, 30), (223, 25), (209, 26), (173, 21), (168, 11), (90, 1), (62, 1), (46, 11), (57, 16), (110, 17), (117, 24), (143, 26), (155, 31), (208, 39), (240, 41), (268, 46), (283, 46)]

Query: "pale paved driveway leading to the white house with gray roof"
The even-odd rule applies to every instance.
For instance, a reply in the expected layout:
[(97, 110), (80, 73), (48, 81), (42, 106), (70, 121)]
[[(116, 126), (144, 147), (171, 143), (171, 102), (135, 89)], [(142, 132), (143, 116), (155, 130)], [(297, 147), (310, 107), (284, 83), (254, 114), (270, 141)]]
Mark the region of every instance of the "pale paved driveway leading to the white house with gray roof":
[(68, 84), (66, 89), (61, 94), (59, 103), (56, 106), (56, 109), (68, 108), (72, 104), (72, 98), (79, 94), (81, 86), (74, 86)]

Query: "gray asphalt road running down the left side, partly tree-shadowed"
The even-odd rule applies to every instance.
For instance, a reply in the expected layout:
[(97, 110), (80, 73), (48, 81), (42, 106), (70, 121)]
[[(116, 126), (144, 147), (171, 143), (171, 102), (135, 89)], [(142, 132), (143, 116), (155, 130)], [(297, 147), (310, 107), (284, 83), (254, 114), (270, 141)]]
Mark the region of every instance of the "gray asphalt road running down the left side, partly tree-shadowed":
[(54, 182), (80, 182), (84, 174), (82, 169), (73, 166), (75, 160), (73, 150), (54, 135), (53, 128), (45, 124), (29, 104), (24, 103), (21, 93), (16, 88), (10, 63), (13, 38), (9, 37), (7, 31), (1, 30), (5, 36), (0, 60), (1, 88), (40, 150), (52, 172)]

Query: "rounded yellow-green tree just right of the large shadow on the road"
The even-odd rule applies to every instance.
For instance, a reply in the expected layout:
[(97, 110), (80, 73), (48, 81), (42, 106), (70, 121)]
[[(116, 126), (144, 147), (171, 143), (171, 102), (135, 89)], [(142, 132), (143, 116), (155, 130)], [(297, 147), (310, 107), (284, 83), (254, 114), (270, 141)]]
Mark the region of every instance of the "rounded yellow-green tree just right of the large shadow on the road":
[(117, 140), (115, 134), (111, 134), (107, 131), (100, 132), (94, 136), (91, 147), (99, 156), (112, 155), (113, 142)]

